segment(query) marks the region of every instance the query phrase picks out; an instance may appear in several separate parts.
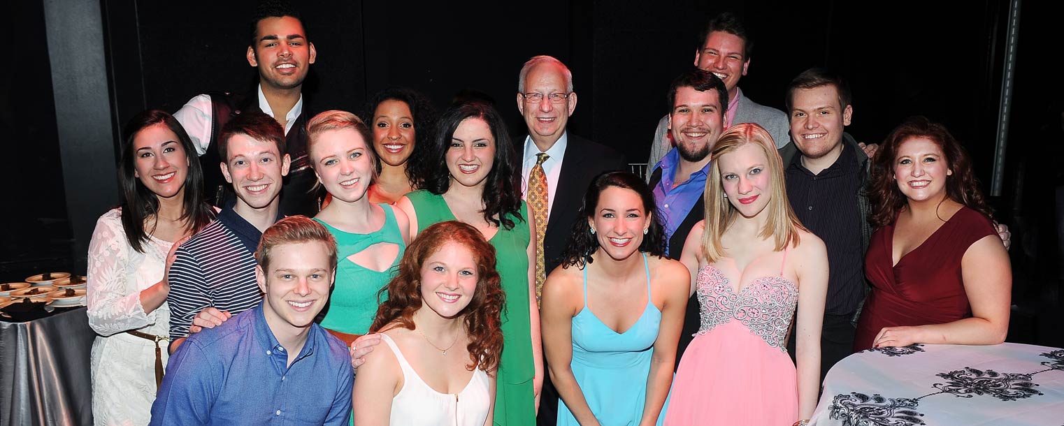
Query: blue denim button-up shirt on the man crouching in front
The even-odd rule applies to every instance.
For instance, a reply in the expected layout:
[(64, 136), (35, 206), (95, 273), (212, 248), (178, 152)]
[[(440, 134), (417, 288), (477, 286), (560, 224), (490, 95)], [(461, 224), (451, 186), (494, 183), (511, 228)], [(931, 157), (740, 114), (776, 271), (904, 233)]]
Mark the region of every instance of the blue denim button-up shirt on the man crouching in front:
[(292, 365), (263, 306), (192, 335), (167, 365), (151, 425), (347, 425), (347, 346), (312, 324)]

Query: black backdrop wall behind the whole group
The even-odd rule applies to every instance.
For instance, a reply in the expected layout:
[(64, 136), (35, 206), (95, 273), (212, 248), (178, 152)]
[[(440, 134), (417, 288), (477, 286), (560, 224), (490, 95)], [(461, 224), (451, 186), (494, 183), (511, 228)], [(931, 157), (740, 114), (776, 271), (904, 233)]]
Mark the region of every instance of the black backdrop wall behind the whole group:
[[(443, 108), (455, 92), (471, 88), (495, 98), (517, 132), (520, 66), (533, 55), (550, 54), (573, 72), (579, 104), (570, 130), (618, 149), (632, 163), (645, 161), (654, 125), (667, 109), (665, 90), (692, 66), (701, 24), (716, 13), (736, 12), (757, 39), (750, 72), (741, 83), (751, 99), (782, 108), (794, 75), (829, 66), (852, 86), (848, 131), (859, 140), (878, 141), (902, 118), (927, 115), (954, 132), (972, 153), (982, 182), (991, 181), (1007, 0), (295, 3), (318, 51), (304, 90), (315, 109), (361, 114), (367, 95), (390, 85), (421, 90)], [(1013, 254), (1030, 255), (1031, 265), (1046, 270), (1057, 265), (1050, 206), (1064, 151), (1062, 84), (1052, 61), (1062, 39), (1055, 3), (1023, 3), (1005, 193), (995, 200), (999, 219), (1045, 236), (1038, 241), (1018, 236), (1020, 244), (1044, 248)], [(0, 14), (11, 29), (12, 65), (0, 79), (9, 155), (0, 168), (7, 202), (0, 212), (6, 219), (0, 279), (20, 279), (20, 271), (41, 265), (83, 271), (93, 222), (118, 201), (113, 163), (61, 153), (82, 152), (71, 151), (74, 147), (113, 159), (120, 125), (140, 109), (173, 112), (200, 92), (252, 87), (256, 73), (244, 58), (252, 4), (11, 2)], [(97, 67), (92, 64), (101, 59), (98, 50)], [(89, 89), (64, 80), (96, 74), (97, 87)], [(106, 102), (86, 101), (90, 89), (101, 90)], [(57, 122), (56, 112), (70, 105), (87, 105), (84, 110), (110, 120), (66, 110)], [(79, 139), (83, 130), (96, 136)], [(106, 131), (113, 136), (99, 136)], [(83, 182), (92, 185), (72, 185)], [(1048, 215), (1040, 219), (1048, 226), (1025, 211)]]

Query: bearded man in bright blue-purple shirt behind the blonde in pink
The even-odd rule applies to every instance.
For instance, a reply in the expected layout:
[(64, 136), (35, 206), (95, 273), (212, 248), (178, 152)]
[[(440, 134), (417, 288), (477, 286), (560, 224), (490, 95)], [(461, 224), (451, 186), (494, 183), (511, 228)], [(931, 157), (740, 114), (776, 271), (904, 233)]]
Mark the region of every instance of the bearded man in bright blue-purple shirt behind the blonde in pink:
[[(710, 171), (710, 152), (722, 129), (728, 89), (712, 72), (692, 69), (672, 81), (668, 103), (667, 126), (676, 149), (654, 166), (650, 185), (665, 225), (666, 254), (679, 260), (687, 234), (705, 216), (702, 193)], [(677, 365), (698, 333), (699, 316), (698, 297), (692, 295), (677, 347)]]

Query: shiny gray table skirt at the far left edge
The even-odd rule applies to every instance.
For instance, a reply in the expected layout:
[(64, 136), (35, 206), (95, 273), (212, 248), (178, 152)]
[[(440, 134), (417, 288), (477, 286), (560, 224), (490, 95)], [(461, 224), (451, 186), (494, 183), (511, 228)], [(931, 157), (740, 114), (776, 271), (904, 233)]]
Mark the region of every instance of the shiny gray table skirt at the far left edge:
[(0, 322), (0, 426), (93, 424), (86, 309)]

